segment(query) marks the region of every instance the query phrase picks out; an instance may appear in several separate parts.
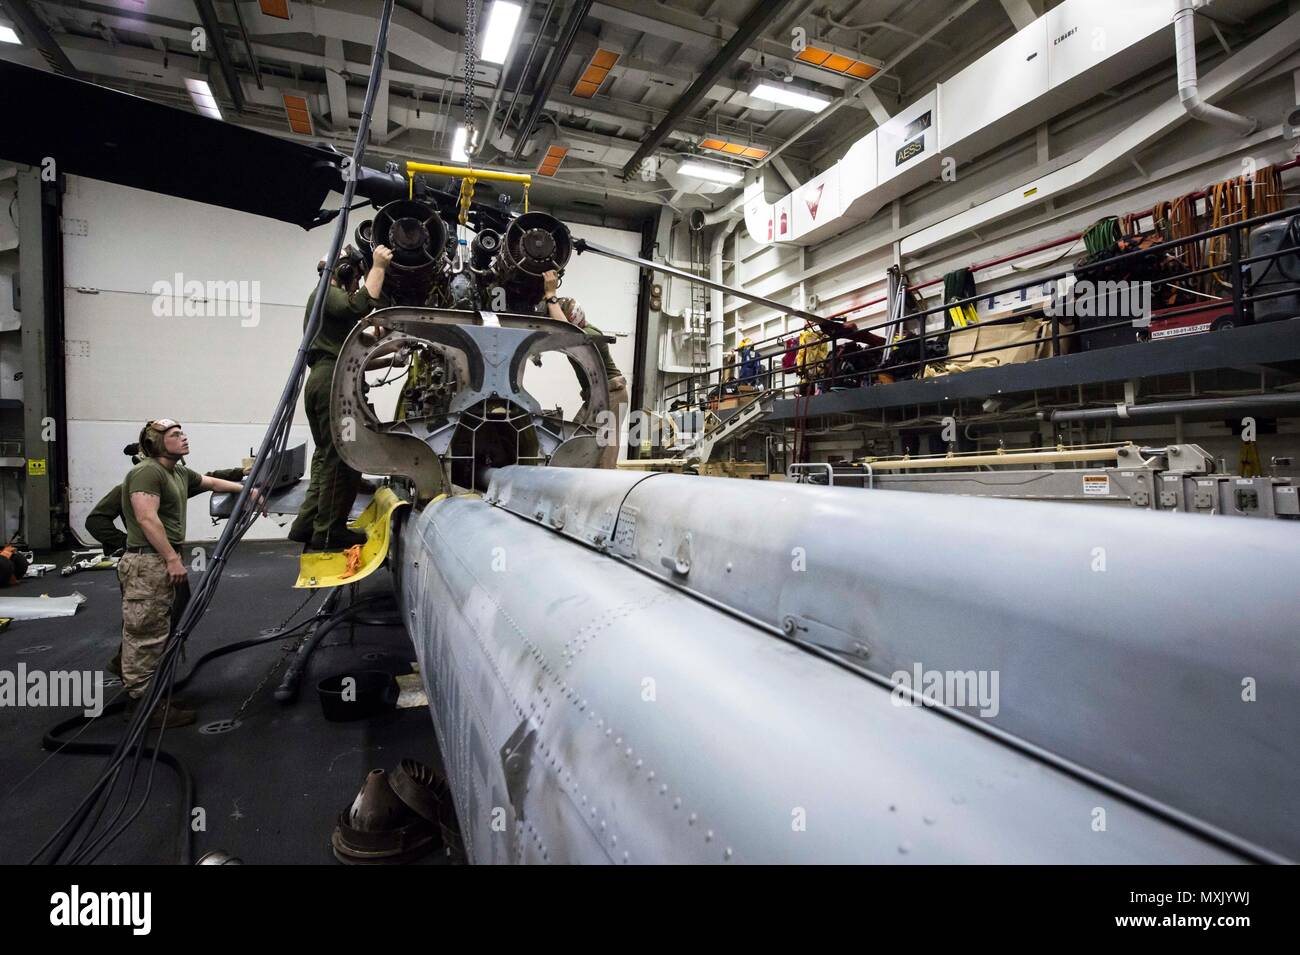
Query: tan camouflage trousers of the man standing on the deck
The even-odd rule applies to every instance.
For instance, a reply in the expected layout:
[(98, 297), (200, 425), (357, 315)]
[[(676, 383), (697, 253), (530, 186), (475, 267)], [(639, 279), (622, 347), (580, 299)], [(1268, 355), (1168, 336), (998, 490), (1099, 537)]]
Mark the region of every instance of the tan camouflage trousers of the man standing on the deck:
[(139, 699), (159, 667), (172, 625), (190, 599), (190, 585), (173, 587), (162, 555), (124, 554), (117, 561), (122, 585), (122, 685)]

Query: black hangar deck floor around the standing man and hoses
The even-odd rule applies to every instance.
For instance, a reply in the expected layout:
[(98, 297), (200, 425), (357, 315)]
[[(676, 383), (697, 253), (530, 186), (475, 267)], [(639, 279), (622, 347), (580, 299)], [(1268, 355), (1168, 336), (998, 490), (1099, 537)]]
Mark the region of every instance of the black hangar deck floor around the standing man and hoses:
[[(281, 542), (239, 546), (216, 598), (187, 647), (182, 673), (218, 646), (259, 637), (298, 608), (307, 591), (294, 590), (299, 547)], [(38, 561), (65, 563), (38, 555)], [(194, 574), (191, 574), (191, 578)], [(356, 585), (358, 594), (391, 589), (387, 570)], [(112, 570), (73, 577), (57, 573), (6, 589), (9, 596), (61, 596), (73, 591), (87, 603), (74, 617), (16, 620), (0, 633), (0, 670), (103, 669), (121, 639), (121, 594)], [(292, 622), (309, 617), (325, 598), (317, 591)], [(344, 595), (346, 599), (346, 595)], [(410, 672), (415, 654), (402, 628), (358, 625), (329, 633), (312, 657), (296, 703), (273, 699), (283, 665), (254, 695), (233, 732), (205, 735), (199, 726), (229, 719), (283, 656), (291, 637), (218, 657), (185, 689), (199, 720), (170, 729), (164, 750), (176, 754), (195, 780), (195, 803), (205, 809), (207, 830), (195, 833), (194, 858), (226, 850), (246, 864), (338, 864), (329, 847), (339, 811), (356, 795), (370, 769), (393, 770), (404, 758), (438, 765), (437, 742), (425, 707), (359, 722), (328, 722), (316, 683), (355, 669)], [(48, 650), (31, 651), (46, 646)], [(29, 652), (21, 652), (29, 650)], [(363, 655), (381, 654), (378, 660)], [(105, 687), (105, 699), (121, 686)], [(81, 800), (99, 774), (103, 756), (51, 755), (42, 735), (77, 715), (64, 708), (0, 708), (0, 864), (23, 863)], [(81, 737), (114, 742), (125, 729), (120, 715), (105, 715)], [(152, 738), (152, 735), (151, 735)], [(140, 773), (143, 782), (146, 773)], [(142, 793), (143, 786), (136, 789)], [(101, 856), (101, 863), (174, 863), (179, 830), (176, 773), (160, 765), (148, 807)], [(429, 861), (439, 861), (441, 855)]]

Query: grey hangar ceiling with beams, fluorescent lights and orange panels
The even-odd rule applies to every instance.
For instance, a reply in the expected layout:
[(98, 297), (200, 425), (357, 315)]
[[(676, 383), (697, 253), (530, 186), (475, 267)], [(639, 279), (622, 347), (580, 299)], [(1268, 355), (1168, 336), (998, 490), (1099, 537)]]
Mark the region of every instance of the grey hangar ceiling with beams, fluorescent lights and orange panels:
[[(485, 19), (490, 0), (473, 1), (482, 12), (480, 19)], [(538, 201), (545, 196), (547, 205), (560, 210), (572, 207), (589, 214), (636, 217), (660, 203), (677, 208), (716, 204), (716, 194), (686, 195), (662, 177), (624, 181), (623, 166), (755, 5), (772, 0), (598, 0), (559, 66), (524, 156), (511, 164), (508, 151), (517, 125), (576, 1), (520, 0), (528, 16), (512, 58), (504, 69), (480, 65), (474, 81), (480, 127), (489, 108), (495, 105), (491, 134), (480, 161), (533, 169), (550, 142), (569, 146), (569, 156), (556, 177), (538, 182), (534, 191)], [(705, 136), (766, 149), (785, 143), (810, 114), (768, 109), (770, 104), (751, 99), (746, 90), (757, 74), (790, 75), (798, 84), (832, 99), (855, 87), (855, 79), (793, 58), (790, 35), (797, 26), (810, 36), (884, 62), (915, 45), (875, 82), (878, 100), (854, 99), (852, 109), (840, 110), (833, 121), (786, 146), (776, 168), (783, 175), (806, 178), (835, 161), (848, 143), (876, 123), (881, 112), (896, 110), (1010, 35), (1017, 29), (1017, 17), (1041, 13), (1057, 1), (980, 0), (919, 45), (916, 38), (941, 23), (956, 4), (949, 0), (781, 4), (784, 9), (759, 39), (720, 73), (658, 152), (666, 157), (697, 152), (697, 143)], [(282, 94), (295, 92), (306, 96), (312, 113), (315, 135), (309, 139), (344, 146), (355, 135), (377, 27), (377, 0), (289, 0), (287, 21), (266, 16), (256, 0), (238, 4), (214, 0), (212, 5), (244, 99), (242, 112), (231, 103), (216, 51), (211, 45), (205, 52), (191, 49), (191, 31), (202, 22), (195, 0), (0, 0), (8, 14), (4, 19), (16, 19), (10, 9), (14, 4), (35, 12), (84, 78), (188, 109), (192, 105), (185, 81), (204, 77), (228, 122), (303, 138), (290, 131), (283, 110)], [(543, 25), (547, 10), (550, 16)], [(448, 159), (451, 133), (464, 109), (464, 29), (462, 0), (398, 0), (385, 83), (372, 121), (368, 156), (372, 164), (385, 159)], [(542, 38), (525, 74), (528, 52), (540, 30)], [(620, 60), (594, 97), (575, 96), (573, 87), (597, 47), (618, 51)], [(47, 66), (27, 47), (0, 44), (0, 56)], [(517, 103), (508, 110), (520, 86)]]

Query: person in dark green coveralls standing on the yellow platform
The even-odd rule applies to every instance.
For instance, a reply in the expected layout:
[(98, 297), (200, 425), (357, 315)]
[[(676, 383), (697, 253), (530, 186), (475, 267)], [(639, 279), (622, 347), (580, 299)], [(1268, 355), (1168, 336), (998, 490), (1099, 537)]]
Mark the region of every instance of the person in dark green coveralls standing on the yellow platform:
[[(385, 246), (376, 246), (374, 264), (360, 283), (350, 281), (346, 266), (334, 268), (320, 330), (307, 351), (307, 365), (311, 372), (303, 388), (303, 404), (307, 408), (307, 424), (311, 426), (316, 450), (312, 452), (307, 496), (289, 530), (289, 539), (307, 544), (307, 550), (342, 550), (365, 543), (365, 534), (347, 526), (347, 516), (352, 509), (352, 502), (356, 500), (361, 474), (343, 461), (334, 446), (329, 395), (343, 339), (365, 316), (389, 304), (384, 295), (384, 275), (391, 261), (393, 253)], [(307, 299), (303, 327), (311, 320), (315, 301), (316, 291), (312, 290)]]

